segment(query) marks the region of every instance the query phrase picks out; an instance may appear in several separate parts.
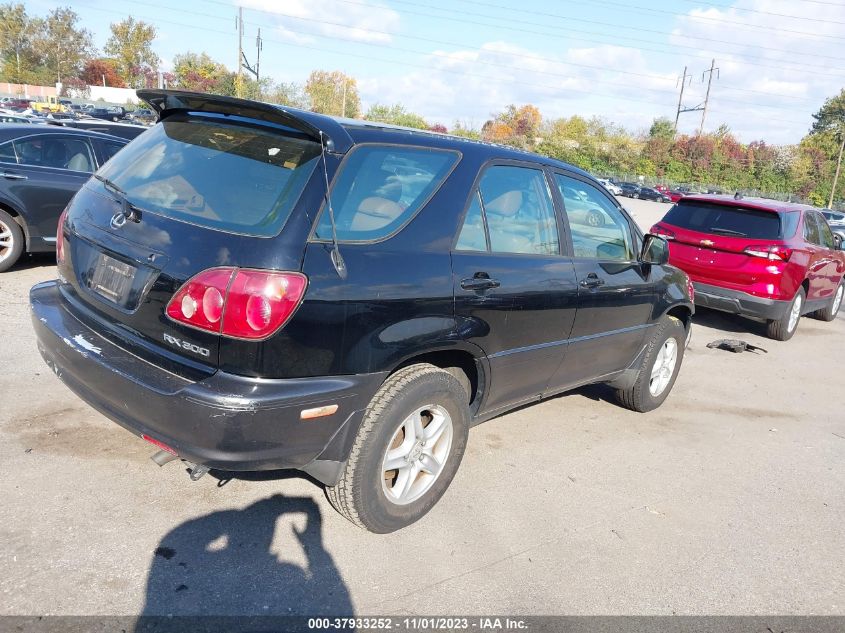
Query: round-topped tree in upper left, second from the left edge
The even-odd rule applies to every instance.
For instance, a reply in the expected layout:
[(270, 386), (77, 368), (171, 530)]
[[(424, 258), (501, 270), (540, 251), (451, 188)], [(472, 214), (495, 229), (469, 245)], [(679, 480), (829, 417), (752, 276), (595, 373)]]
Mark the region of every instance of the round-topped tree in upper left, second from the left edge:
[(44, 61), (56, 83), (64, 77), (75, 78), (85, 61), (94, 53), (94, 42), (88, 29), (77, 27), (79, 15), (68, 7), (53, 9), (47, 14), (36, 40)]

